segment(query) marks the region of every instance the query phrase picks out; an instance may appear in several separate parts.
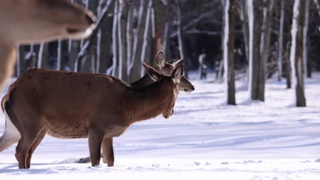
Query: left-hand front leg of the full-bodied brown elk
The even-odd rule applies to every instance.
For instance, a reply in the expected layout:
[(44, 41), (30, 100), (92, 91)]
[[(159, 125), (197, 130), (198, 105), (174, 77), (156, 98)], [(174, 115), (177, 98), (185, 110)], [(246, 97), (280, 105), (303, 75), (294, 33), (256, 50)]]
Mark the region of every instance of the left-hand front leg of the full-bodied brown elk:
[(100, 164), (101, 158), (101, 144), (103, 141), (104, 132), (98, 130), (89, 130), (88, 141), (89, 141), (89, 151), (90, 160), (92, 166)]

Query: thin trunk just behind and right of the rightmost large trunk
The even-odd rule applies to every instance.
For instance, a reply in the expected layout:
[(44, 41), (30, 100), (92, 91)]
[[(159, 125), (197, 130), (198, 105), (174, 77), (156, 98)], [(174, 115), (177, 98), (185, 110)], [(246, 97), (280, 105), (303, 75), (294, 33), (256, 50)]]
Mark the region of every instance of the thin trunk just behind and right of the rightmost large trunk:
[[(306, 0), (306, 14), (304, 18), (304, 76), (311, 77), (311, 70), (308, 68), (308, 26), (309, 26), (309, 8), (310, 0)], [(309, 76), (310, 74), (310, 76)]]

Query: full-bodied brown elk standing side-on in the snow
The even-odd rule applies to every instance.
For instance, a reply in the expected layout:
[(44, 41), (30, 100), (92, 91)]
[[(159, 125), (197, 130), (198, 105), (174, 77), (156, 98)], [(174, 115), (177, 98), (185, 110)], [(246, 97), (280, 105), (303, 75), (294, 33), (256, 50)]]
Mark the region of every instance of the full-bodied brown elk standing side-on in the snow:
[[(162, 114), (168, 119), (178, 95), (183, 65), (170, 76), (144, 63), (155, 82), (133, 87), (104, 74), (29, 70), (9, 87), (1, 104), (5, 132), (0, 151), (18, 142), (19, 168), (30, 168), (31, 156), (45, 134), (57, 138), (88, 137), (92, 166), (111, 153), (105, 143), (120, 136), (132, 123)], [(113, 154), (113, 153), (112, 153)]]

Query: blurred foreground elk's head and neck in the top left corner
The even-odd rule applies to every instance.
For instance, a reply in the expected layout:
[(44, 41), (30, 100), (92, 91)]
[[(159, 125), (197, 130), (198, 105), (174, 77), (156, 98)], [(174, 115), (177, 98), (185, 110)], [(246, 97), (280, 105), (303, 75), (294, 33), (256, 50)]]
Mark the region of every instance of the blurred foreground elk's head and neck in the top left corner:
[(16, 63), (16, 44), (88, 37), (95, 16), (68, 0), (0, 0), (0, 91)]

